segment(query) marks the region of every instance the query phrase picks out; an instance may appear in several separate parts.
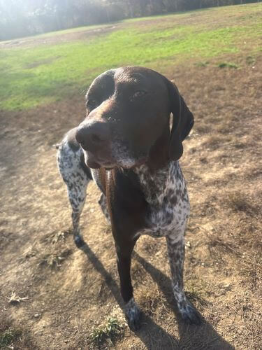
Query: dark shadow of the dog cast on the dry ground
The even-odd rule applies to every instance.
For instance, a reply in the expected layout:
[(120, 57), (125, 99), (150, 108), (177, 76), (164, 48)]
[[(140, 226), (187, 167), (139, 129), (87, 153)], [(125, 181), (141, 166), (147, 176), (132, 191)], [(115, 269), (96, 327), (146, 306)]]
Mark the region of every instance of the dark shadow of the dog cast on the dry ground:
[[(105, 283), (111, 290), (112, 295), (114, 295), (115, 300), (119, 304), (119, 307), (123, 309), (122, 297), (119, 292), (119, 286), (115, 279), (105, 270), (103, 264), (96, 257), (92, 249), (85, 243), (80, 248), (94, 265), (94, 268), (103, 276)], [(201, 326), (195, 325), (185, 325), (180, 316), (177, 314), (177, 309), (175, 309), (175, 300), (170, 297), (171, 291), (171, 281), (163, 274), (159, 269), (155, 268), (142, 258), (138, 253), (133, 252), (133, 258), (143, 265), (145, 270), (152, 276), (154, 281), (158, 284), (159, 288), (162, 290), (163, 294), (166, 296), (166, 300), (170, 304), (171, 309), (173, 309), (175, 315), (177, 316), (178, 329), (180, 333), (180, 339), (175, 339), (173, 335), (163, 330), (157, 323), (155, 323), (150, 316), (143, 314), (141, 324), (142, 328), (136, 331), (136, 336), (141, 339), (145, 344), (147, 349), (174, 349), (174, 350), (226, 350), (234, 349), (233, 346), (228, 344), (225, 339), (223, 339), (215, 330), (212, 325), (205, 321), (203, 318), (203, 324)], [(168, 286), (170, 286), (168, 288)]]

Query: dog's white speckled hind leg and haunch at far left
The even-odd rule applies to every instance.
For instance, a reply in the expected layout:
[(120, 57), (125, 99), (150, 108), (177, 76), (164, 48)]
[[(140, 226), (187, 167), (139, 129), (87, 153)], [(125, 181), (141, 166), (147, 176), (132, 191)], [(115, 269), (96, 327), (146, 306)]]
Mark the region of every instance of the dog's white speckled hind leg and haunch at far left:
[(72, 208), (73, 238), (78, 248), (84, 244), (79, 223), (85, 205), (87, 184), (92, 179), (89, 169), (85, 169), (82, 163), (82, 149), (75, 144), (72, 146), (65, 137), (59, 145), (57, 164), (61, 177), (67, 186), (68, 200)]

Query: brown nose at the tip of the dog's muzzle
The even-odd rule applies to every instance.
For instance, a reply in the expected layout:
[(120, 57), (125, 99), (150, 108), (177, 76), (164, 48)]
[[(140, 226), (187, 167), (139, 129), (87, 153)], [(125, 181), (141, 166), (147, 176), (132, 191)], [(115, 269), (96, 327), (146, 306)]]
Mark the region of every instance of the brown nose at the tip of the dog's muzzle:
[(109, 141), (109, 128), (106, 123), (80, 124), (75, 134), (75, 139), (85, 151), (97, 151), (106, 146)]

